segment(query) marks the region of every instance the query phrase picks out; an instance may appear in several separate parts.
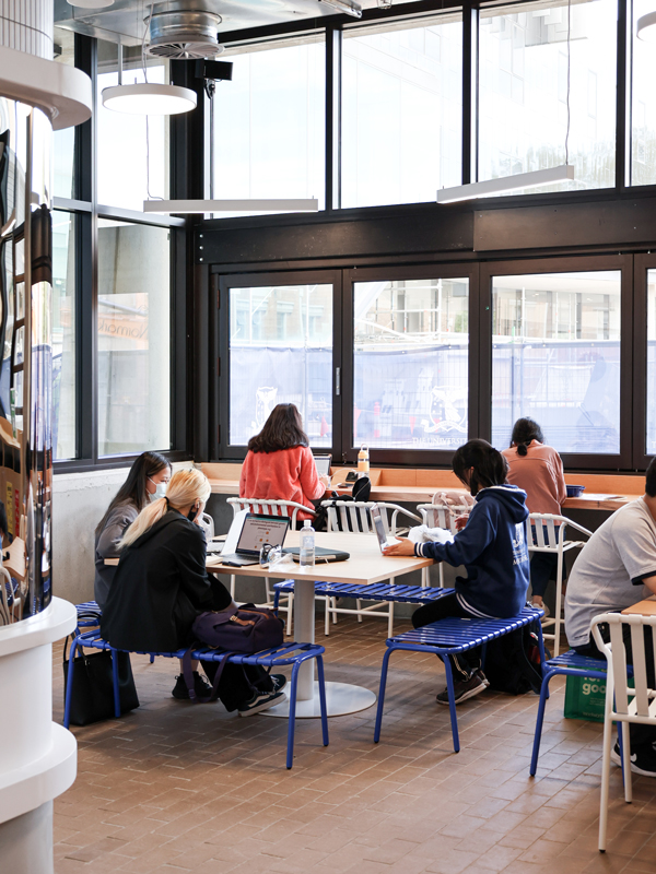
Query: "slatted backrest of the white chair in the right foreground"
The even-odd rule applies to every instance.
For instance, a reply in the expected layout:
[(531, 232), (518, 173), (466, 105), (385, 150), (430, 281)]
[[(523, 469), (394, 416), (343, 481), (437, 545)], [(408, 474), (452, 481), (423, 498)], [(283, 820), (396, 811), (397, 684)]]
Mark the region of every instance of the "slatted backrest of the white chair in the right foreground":
[[(610, 629), (610, 643), (601, 636), (601, 625), (608, 625)], [(629, 688), (624, 628), (629, 628), (631, 634), (634, 688)], [(640, 721), (647, 718), (656, 722), (656, 701), (654, 700), (656, 690), (649, 688), (647, 684), (646, 628), (652, 629), (652, 637), (654, 637), (656, 616), (623, 616), (621, 613), (604, 613), (600, 616), (595, 616), (591, 623), (591, 631), (597, 648), (606, 656), (608, 662), (609, 683), (614, 687), (616, 712), (642, 718)], [(656, 670), (656, 654), (654, 653), (653, 645), (651, 650), (651, 668)]]

